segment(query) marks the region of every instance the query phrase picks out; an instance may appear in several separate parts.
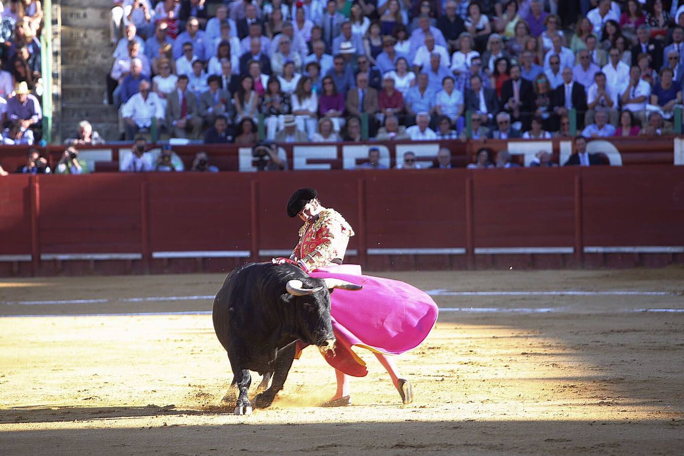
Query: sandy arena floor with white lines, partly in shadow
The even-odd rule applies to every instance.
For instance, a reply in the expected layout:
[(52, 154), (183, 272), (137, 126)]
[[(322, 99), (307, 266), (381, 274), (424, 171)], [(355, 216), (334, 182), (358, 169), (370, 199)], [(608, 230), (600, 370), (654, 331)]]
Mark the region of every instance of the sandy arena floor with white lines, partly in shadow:
[(397, 358), (415, 403), (360, 349), (371, 373), (352, 381), (354, 405), (317, 407), (334, 375), (308, 349), (248, 417), (218, 407), (228, 360), (197, 313), (223, 275), (0, 280), (0, 451), (684, 454), (683, 268), (385, 276), (456, 292)]

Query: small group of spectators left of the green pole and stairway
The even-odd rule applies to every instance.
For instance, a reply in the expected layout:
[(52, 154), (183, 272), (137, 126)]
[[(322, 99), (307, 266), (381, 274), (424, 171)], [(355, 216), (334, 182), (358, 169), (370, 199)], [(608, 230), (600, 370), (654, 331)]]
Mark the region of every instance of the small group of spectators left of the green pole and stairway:
[(0, 3), (1, 144), (31, 145), (42, 137), (39, 0)]

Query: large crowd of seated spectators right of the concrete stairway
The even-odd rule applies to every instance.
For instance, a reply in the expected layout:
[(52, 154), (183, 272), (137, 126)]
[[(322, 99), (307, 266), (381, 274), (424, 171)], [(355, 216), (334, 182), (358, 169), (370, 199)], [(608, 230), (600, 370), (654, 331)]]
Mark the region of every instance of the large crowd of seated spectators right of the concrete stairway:
[(127, 139), (156, 123), (244, 142), (262, 115), (272, 140), (293, 118), (287, 141), (666, 134), (683, 13), (669, 0), (125, 0), (110, 101)]

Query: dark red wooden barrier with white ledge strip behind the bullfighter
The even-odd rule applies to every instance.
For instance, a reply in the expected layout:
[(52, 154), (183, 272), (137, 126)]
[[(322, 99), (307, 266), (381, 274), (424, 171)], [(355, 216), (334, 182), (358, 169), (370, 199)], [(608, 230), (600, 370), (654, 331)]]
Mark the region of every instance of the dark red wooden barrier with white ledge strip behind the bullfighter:
[(287, 255), (301, 222), (285, 203), (304, 186), (345, 215), (347, 260), (369, 269), (684, 261), (684, 167), (92, 174), (0, 178), (0, 273), (225, 271)]

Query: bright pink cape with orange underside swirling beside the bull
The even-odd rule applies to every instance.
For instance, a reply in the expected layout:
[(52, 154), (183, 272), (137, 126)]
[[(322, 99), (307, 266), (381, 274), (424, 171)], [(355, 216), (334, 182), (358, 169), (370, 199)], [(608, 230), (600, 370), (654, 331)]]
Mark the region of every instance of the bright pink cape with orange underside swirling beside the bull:
[(309, 275), (363, 285), (361, 291), (336, 289), (330, 295), (337, 343), (334, 354), (329, 351), (325, 358), (345, 374), (368, 373), (365, 362), (352, 351), (354, 345), (399, 355), (420, 345), (437, 320), (437, 305), (427, 293), (398, 280), (363, 276), (358, 265), (321, 267)]

